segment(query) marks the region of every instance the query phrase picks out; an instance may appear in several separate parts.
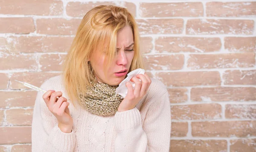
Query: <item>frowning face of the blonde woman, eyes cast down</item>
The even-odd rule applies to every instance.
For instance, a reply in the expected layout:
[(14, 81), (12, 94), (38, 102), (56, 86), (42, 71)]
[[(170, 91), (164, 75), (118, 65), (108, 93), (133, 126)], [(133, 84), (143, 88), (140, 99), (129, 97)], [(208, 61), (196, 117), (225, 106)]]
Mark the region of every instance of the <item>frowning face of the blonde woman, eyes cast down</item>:
[[(111, 66), (108, 68), (106, 75), (104, 75), (103, 72), (103, 68), (105, 67), (104, 59), (106, 54), (99, 50), (93, 53), (94, 60), (91, 60), (91, 64), (93, 66), (93, 74), (100, 83), (107, 83), (111, 86), (116, 86), (125, 79), (125, 75), (127, 75), (127, 72), (131, 66), (131, 61), (134, 57), (133, 46), (134, 39), (132, 29), (130, 26), (125, 26), (117, 33), (116, 57), (111, 62)], [(117, 73), (124, 70), (126, 71)]]

